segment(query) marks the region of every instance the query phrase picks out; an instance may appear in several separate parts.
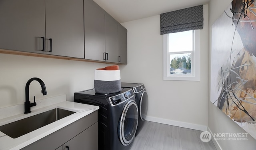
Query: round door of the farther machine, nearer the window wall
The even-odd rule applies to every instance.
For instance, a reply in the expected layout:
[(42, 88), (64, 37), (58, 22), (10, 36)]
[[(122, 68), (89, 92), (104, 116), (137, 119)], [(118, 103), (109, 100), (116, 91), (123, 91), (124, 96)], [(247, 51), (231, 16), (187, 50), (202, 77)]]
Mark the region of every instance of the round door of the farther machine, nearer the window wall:
[(140, 119), (143, 121), (148, 112), (148, 94), (143, 91), (140, 97)]

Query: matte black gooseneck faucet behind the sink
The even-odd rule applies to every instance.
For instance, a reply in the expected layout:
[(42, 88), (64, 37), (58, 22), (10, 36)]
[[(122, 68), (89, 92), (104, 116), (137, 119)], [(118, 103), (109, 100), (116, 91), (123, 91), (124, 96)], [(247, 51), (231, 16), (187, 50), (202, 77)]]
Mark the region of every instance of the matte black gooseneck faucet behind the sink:
[(36, 80), (37, 82), (40, 83), (41, 88), (42, 88), (42, 94), (47, 95), (45, 84), (40, 78), (31, 78), (31, 79), (29, 79), (28, 82), (26, 83), (26, 87), (25, 87), (26, 101), (25, 101), (25, 112), (24, 112), (24, 114), (28, 114), (28, 113), (31, 112), (30, 107), (36, 106), (35, 100), (31, 104), (30, 104), (30, 101), (29, 101), (29, 85), (34, 80)]

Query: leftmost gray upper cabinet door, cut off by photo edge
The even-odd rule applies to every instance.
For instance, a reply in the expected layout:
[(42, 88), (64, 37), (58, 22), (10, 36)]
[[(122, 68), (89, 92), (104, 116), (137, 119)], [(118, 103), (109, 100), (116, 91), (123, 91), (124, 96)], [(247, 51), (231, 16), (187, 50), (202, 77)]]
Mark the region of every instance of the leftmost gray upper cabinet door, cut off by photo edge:
[(44, 0), (0, 0), (0, 48), (45, 53)]

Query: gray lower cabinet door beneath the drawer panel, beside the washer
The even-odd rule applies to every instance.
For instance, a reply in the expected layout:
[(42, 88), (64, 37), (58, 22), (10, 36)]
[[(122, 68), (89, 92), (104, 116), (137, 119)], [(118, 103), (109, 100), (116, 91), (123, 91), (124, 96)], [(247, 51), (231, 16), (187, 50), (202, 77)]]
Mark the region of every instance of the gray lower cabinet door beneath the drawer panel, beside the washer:
[(98, 150), (98, 122), (66, 142), (63, 150)]

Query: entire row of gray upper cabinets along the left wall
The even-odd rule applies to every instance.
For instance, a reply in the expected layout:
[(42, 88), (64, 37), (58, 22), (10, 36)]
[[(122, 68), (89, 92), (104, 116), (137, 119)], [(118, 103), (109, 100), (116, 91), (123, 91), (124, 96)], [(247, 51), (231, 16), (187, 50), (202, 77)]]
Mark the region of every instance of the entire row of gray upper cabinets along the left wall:
[(0, 26), (0, 49), (127, 64), (126, 28), (93, 0), (0, 0)]

